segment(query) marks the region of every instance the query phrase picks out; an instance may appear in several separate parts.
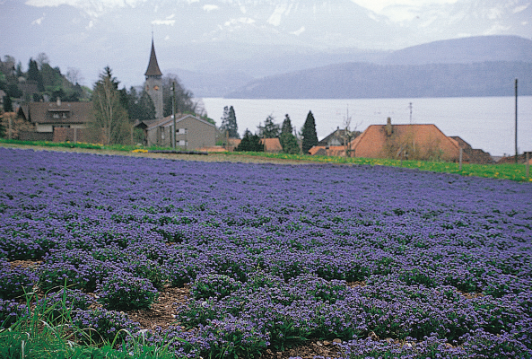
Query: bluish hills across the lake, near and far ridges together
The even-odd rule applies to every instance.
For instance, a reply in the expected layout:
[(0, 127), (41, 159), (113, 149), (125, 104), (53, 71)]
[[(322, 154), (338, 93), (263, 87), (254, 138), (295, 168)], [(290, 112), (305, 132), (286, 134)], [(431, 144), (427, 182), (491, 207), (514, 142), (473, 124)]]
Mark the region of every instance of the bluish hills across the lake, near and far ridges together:
[(486, 36), (435, 41), (391, 53), (373, 52), (366, 58), (361, 56), (359, 61), (311, 67), (260, 79), (250, 79), (243, 73), (174, 72), (188, 88), (203, 97), (505, 96), (513, 93), (516, 78), (521, 80), (519, 93), (532, 95), (532, 40)]

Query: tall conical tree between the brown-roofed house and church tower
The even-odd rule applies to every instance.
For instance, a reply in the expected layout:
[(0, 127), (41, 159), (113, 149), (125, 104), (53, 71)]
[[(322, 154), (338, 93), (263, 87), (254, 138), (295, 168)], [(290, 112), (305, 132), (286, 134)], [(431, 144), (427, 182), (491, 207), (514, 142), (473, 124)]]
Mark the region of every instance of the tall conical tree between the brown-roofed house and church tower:
[(121, 103), (118, 81), (107, 66), (92, 92), (92, 127), (101, 129), (104, 144), (123, 144), (130, 136), (127, 111)]

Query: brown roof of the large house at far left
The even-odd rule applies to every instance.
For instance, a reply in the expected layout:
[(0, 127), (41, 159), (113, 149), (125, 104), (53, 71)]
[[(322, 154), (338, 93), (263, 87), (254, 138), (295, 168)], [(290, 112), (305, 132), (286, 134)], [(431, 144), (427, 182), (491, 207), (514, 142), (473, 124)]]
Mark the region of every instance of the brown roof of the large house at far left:
[[(39, 124), (84, 124), (93, 116), (92, 102), (30, 102), (22, 105), (20, 112), (26, 120)], [(54, 118), (54, 114), (59, 116)]]

